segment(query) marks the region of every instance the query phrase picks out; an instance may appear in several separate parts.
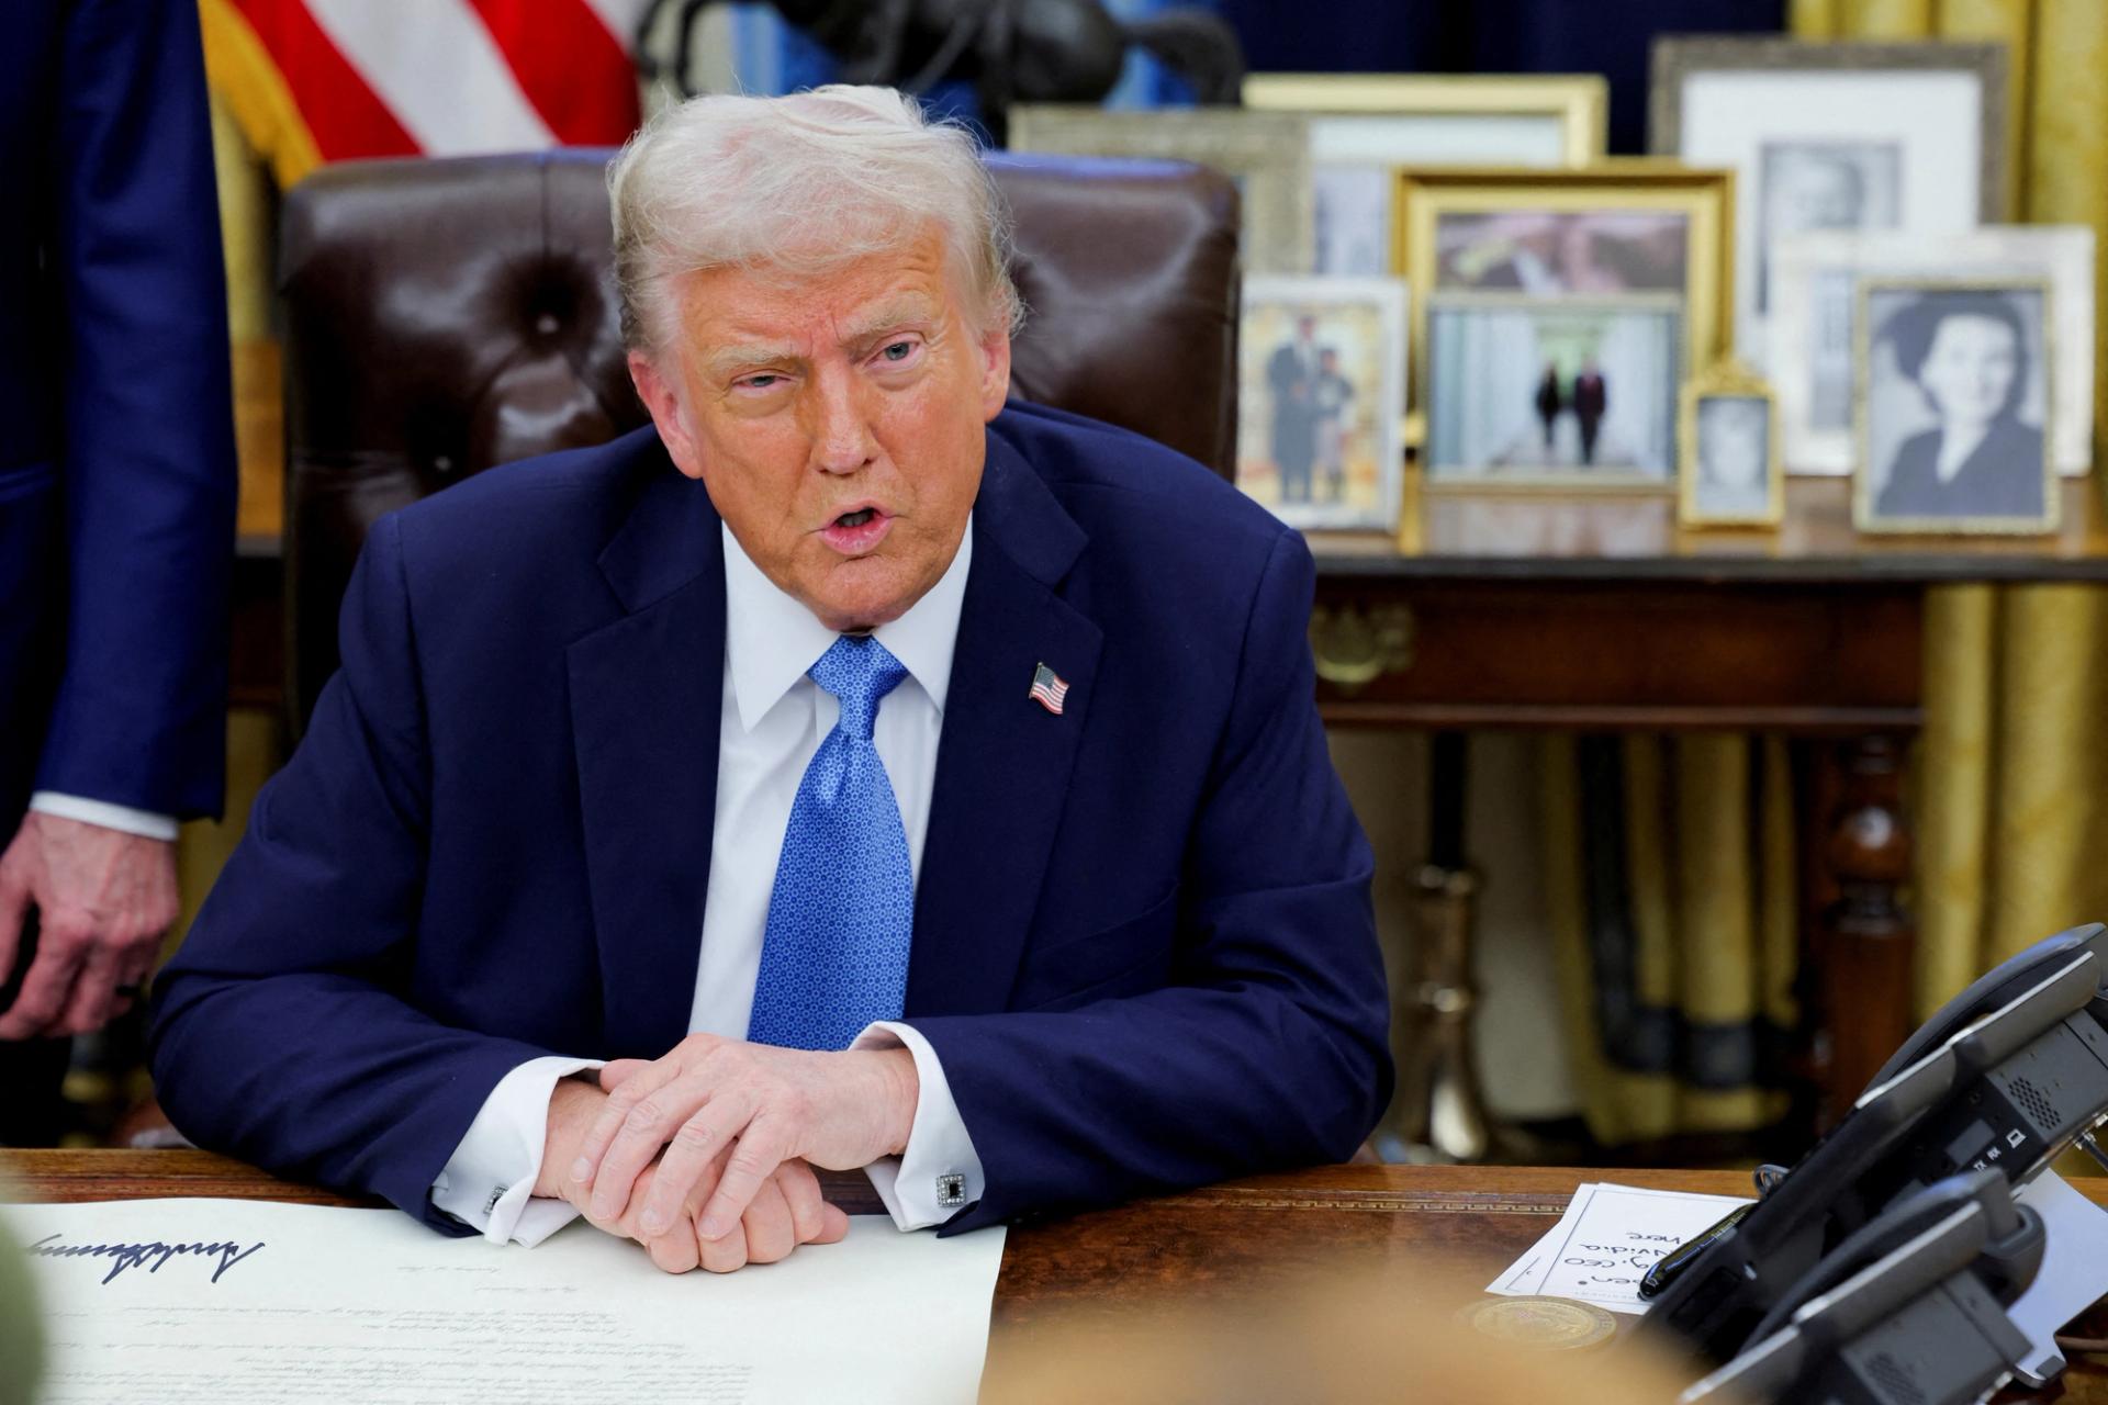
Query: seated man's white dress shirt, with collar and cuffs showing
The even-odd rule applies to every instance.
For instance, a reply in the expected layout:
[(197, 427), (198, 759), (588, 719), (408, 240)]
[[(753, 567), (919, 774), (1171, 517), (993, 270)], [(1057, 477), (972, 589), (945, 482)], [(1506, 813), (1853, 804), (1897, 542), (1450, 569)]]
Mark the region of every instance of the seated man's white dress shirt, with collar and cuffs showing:
[[(790, 805), (807, 763), (835, 729), (841, 704), (805, 676), (835, 642), (835, 632), (778, 590), (729, 529), (723, 529), (723, 539), (725, 693), (717, 729), (717, 819), (687, 1028), (746, 1038)], [(909, 670), (879, 704), (873, 741), (900, 803), (909, 868), (917, 878), (972, 556), (974, 527), (968, 522), (959, 554), (938, 583), (900, 619), (875, 630), (875, 638)], [(702, 855), (696, 857), (702, 862)], [(852, 1045), (885, 1047), (906, 1047), (915, 1057), (921, 1095), (906, 1154), (887, 1156), (866, 1173), (894, 1224), (919, 1230), (980, 1199), (980, 1156), (930, 1043), (911, 1026), (885, 1020)], [(531, 1199), (531, 1190), (542, 1173), (550, 1091), (557, 1079), (584, 1068), (599, 1068), (599, 1062), (540, 1057), (508, 1072), (432, 1182), (432, 1205), (497, 1243), (535, 1245), (569, 1224), (578, 1213), (569, 1203)]]

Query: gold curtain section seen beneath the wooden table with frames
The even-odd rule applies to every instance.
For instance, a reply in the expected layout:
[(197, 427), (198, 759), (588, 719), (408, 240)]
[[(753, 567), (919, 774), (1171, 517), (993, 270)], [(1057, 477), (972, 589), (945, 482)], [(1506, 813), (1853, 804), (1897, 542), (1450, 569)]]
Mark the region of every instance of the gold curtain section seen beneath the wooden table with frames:
[(1754, 1131), (1796, 1026), (1781, 737), (1547, 737), (1545, 912), (1570, 1074), (1606, 1144)]

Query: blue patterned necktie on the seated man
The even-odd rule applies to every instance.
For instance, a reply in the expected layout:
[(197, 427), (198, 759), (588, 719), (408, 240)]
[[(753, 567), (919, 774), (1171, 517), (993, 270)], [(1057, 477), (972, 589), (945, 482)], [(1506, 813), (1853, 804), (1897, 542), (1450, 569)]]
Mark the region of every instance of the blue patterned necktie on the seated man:
[(746, 1038), (847, 1049), (873, 1020), (898, 1020), (909, 988), (915, 874), (900, 803), (871, 729), (909, 676), (868, 634), (843, 634), (805, 670), (841, 699), (790, 805)]

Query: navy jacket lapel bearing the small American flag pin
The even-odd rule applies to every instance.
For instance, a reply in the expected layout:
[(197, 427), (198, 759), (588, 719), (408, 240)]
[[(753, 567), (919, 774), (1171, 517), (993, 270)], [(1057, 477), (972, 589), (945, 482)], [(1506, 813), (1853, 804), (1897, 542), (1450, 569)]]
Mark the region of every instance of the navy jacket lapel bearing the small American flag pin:
[[(915, 897), (909, 1015), (1008, 1005), (1105, 642), (1054, 594), (1084, 543), (1031, 466), (991, 434)], [(1029, 695), (1039, 664), (1069, 682), (1058, 716)]]

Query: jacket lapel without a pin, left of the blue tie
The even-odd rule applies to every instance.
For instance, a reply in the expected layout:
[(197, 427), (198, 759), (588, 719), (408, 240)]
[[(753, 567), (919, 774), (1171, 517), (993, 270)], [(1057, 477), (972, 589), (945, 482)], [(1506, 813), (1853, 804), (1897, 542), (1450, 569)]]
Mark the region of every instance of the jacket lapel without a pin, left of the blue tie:
[(567, 664), (603, 1045), (658, 1057), (687, 1034), (717, 815), (725, 556), (702, 484), (653, 476), (601, 573), (628, 613)]

